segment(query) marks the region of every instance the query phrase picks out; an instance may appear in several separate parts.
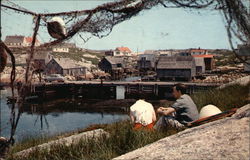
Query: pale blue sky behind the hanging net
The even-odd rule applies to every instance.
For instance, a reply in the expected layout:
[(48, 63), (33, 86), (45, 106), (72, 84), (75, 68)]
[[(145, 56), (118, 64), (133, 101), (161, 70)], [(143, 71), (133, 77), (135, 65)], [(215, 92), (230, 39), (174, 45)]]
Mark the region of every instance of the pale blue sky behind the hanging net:
[[(2, 1), (2, 0), (1, 0)], [(5, 0), (2, 3), (9, 4)], [(111, 1), (111, 0), (110, 0)], [(55, 13), (92, 9), (107, 0), (12, 0), (12, 2), (36, 13)], [(1, 10), (1, 39), (7, 35), (32, 36), (33, 17)], [(66, 26), (67, 27), (67, 26)], [(86, 34), (82, 36), (88, 37)], [(38, 39), (41, 43), (53, 39), (45, 26), (40, 26)], [(222, 14), (212, 10), (170, 9), (156, 6), (116, 25), (104, 38), (92, 37), (86, 43), (78, 36), (70, 41), (78, 47), (106, 50), (128, 47), (134, 52), (159, 49), (230, 49)]]

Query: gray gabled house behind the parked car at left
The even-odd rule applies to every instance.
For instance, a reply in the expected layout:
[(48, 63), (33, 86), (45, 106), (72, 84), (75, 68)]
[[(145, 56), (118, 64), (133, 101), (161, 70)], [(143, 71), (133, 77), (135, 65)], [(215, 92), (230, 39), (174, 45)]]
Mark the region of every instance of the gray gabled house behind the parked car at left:
[(53, 58), (46, 65), (47, 74), (85, 75), (86, 67), (75, 64), (70, 58)]

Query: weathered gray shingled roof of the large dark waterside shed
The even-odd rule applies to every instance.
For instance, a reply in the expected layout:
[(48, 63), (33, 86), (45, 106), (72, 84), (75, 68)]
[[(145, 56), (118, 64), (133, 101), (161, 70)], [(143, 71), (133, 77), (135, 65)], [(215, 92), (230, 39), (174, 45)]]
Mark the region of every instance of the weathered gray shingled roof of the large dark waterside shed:
[(160, 56), (157, 69), (191, 69), (193, 63), (192, 56)]

